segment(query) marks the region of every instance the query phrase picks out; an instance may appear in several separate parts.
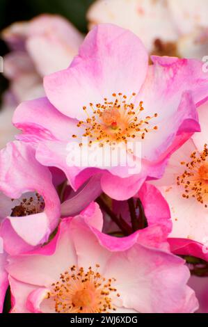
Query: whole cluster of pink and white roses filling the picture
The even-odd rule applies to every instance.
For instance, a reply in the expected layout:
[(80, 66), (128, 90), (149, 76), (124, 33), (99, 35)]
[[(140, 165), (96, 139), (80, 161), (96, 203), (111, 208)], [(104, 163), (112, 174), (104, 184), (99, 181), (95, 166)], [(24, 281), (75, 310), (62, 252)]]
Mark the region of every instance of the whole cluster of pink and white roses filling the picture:
[[(125, 5), (109, 22), (103, 2), (86, 38), (49, 15), (3, 32), (17, 108), (0, 152), (0, 312), (8, 287), (14, 313), (208, 310), (205, 63), (164, 6), (152, 4), (169, 26), (155, 43), (151, 10), (133, 33), (118, 26)], [(155, 55), (169, 40), (175, 54)]]

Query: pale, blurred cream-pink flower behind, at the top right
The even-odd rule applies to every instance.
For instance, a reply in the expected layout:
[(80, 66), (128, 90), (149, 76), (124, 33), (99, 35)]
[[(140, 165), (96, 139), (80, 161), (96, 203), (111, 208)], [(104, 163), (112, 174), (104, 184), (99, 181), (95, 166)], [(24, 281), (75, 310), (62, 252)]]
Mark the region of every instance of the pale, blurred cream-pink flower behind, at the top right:
[(90, 29), (112, 23), (133, 31), (150, 54), (201, 59), (208, 50), (207, 15), (206, 0), (97, 0), (87, 17)]

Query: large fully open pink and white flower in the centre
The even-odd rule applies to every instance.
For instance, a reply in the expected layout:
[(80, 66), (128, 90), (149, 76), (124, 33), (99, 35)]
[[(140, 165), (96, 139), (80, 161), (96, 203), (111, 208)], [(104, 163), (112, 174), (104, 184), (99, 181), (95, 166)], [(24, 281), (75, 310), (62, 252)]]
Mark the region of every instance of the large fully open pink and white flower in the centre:
[[(152, 61), (148, 66), (147, 51), (133, 33), (111, 24), (95, 27), (70, 67), (45, 77), (47, 98), (17, 108), (19, 138), (38, 142), (38, 161), (63, 170), (73, 189), (102, 173), (106, 194), (116, 200), (134, 196), (147, 177), (160, 178), (170, 154), (200, 131), (195, 106), (208, 96), (208, 76), (199, 61), (157, 56)], [(99, 145), (95, 157), (100, 147), (119, 145), (134, 159), (134, 173), (120, 162), (69, 167), (67, 146), (81, 147), (82, 139)], [(129, 143), (141, 144), (141, 153)]]

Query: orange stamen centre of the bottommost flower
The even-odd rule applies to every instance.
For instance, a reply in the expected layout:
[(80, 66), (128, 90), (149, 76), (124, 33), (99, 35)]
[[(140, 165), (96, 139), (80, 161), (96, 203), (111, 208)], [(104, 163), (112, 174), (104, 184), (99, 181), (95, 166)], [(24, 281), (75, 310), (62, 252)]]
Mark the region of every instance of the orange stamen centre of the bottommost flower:
[[(112, 296), (117, 291), (112, 282), (115, 278), (102, 277), (91, 267), (88, 271), (72, 266), (70, 271), (61, 274), (60, 280), (51, 285), (48, 298), (53, 298), (58, 313), (102, 313), (115, 310)], [(120, 294), (116, 294), (120, 296)]]

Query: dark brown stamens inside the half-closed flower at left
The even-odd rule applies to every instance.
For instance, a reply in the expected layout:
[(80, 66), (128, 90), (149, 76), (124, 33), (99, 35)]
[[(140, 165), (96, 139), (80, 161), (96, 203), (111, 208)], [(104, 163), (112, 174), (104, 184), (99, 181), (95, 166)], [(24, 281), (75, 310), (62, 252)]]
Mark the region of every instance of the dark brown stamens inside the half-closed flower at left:
[(22, 200), (11, 199), (17, 202), (17, 205), (12, 208), (12, 217), (29, 216), (31, 214), (39, 214), (45, 208), (45, 202), (40, 194), (35, 193), (34, 196), (22, 198)]

